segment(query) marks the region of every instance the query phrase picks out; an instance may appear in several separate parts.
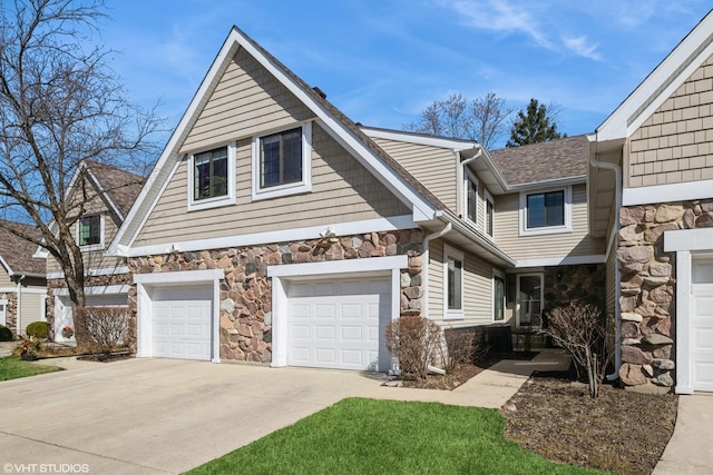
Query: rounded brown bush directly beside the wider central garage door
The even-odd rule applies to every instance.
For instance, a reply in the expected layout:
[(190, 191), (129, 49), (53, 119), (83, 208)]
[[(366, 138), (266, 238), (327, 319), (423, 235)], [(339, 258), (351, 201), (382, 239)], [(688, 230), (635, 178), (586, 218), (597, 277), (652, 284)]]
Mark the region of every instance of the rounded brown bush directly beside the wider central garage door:
[(401, 376), (426, 379), (441, 342), (441, 328), (428, 318), (406, 316), (389, 321), (385, 336), (387, 348), (399, 358)]

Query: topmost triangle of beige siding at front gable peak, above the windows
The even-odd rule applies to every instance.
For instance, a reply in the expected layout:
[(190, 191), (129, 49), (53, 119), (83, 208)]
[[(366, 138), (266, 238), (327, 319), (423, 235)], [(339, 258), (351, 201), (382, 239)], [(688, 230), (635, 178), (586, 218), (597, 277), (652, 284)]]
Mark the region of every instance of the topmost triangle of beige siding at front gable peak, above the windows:
[(211, 95), (180, 154), (310, 120), (314, 115), (241, 49)]

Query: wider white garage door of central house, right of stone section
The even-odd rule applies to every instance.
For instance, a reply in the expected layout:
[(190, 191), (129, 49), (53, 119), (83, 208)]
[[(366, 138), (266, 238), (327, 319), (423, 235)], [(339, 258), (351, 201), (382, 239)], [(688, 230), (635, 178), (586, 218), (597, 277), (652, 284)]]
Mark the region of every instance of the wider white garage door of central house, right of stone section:
[(390, 279), (293, 281), (287, 296), (289, 365), (388, 370)]

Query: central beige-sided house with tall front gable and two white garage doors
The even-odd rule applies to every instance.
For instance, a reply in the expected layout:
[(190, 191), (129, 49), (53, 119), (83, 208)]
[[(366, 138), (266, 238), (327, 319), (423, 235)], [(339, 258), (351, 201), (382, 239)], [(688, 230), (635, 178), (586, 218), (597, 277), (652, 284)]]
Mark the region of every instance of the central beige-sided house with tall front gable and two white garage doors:
[[(508, 167), (527, 154), (531, 177)], [(106, 253), (133, 347), (384, 372), (400, 315), (538, 326), (550, 281), (603, 301), (587, 159), (586, 137), (490, 157), (360, 126), (233, 28)]]

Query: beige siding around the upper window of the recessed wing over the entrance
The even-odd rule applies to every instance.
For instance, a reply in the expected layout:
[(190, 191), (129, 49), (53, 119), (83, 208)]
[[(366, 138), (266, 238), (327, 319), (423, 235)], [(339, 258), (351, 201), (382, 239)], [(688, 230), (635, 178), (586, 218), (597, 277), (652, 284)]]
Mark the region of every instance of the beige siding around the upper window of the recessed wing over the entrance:
[(588, 234), (586, 186), (572, 187), (572, 231), (540, 236), (519, 235), (519, 194), (495, 197), (495, 243), (515, 259), (604, 255), (604, 239)]

